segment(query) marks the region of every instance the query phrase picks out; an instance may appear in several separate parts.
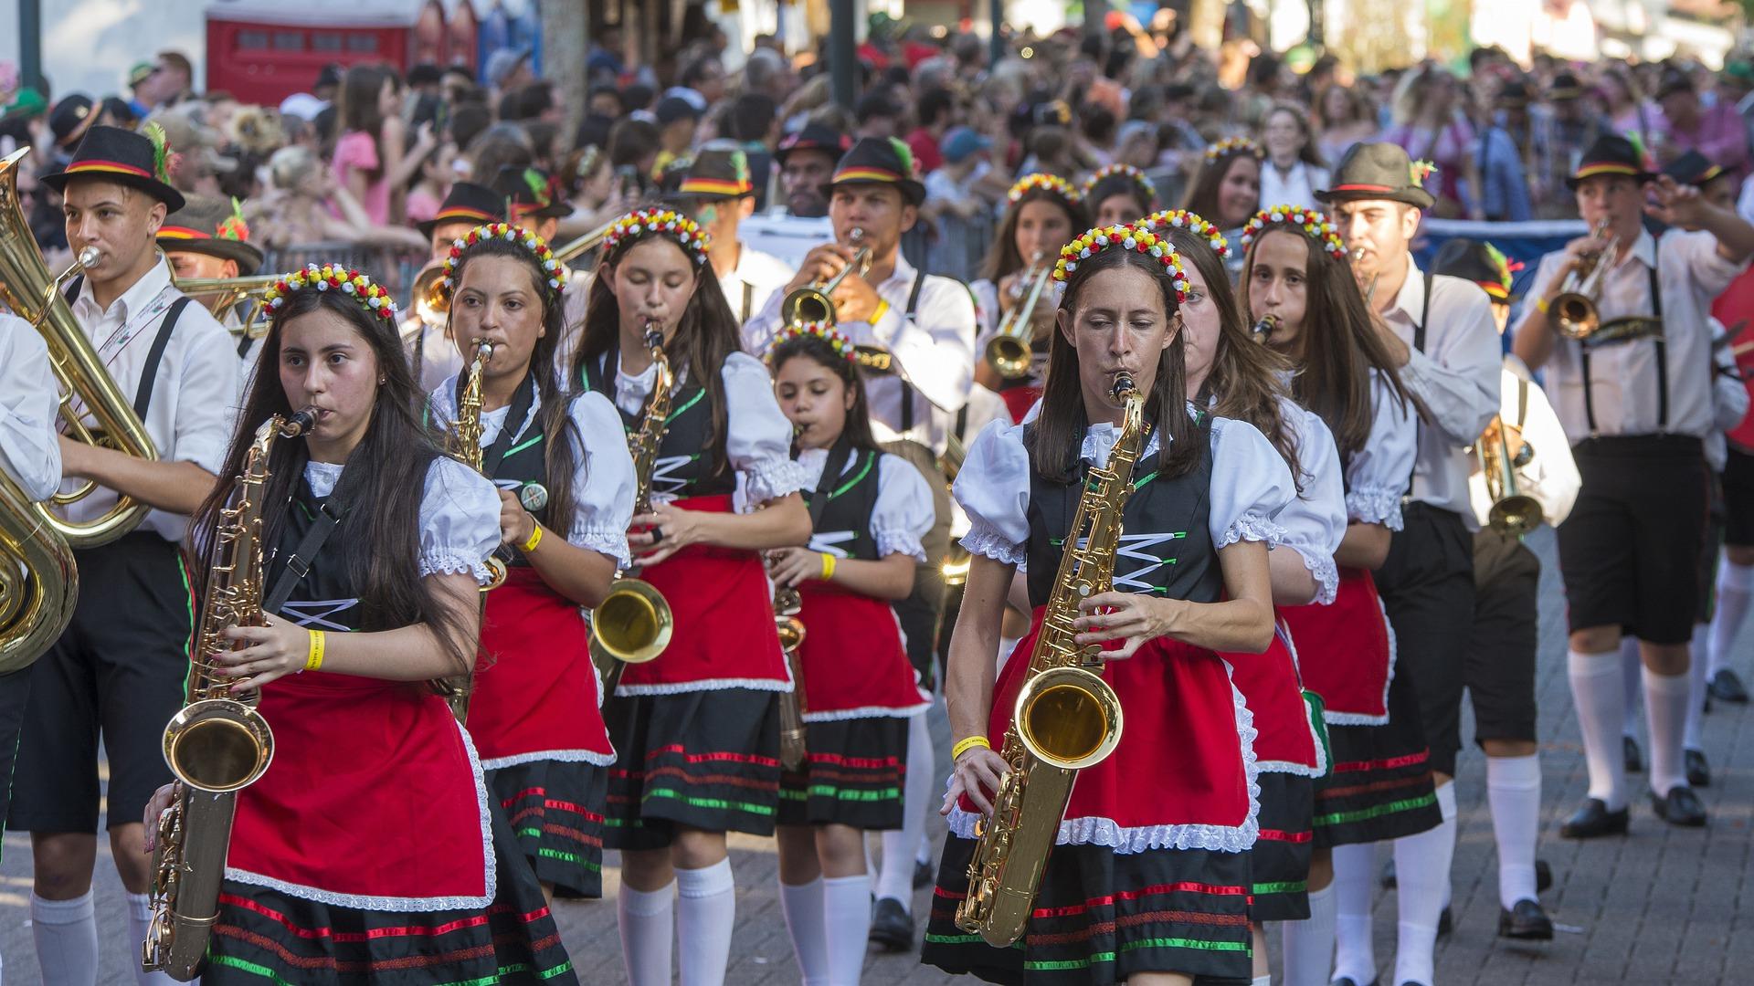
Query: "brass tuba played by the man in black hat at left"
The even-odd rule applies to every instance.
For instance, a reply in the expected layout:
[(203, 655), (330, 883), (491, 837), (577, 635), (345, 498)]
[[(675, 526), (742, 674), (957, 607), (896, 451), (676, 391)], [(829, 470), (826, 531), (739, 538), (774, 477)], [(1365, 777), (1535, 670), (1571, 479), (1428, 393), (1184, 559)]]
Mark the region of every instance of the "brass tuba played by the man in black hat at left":
[[(158, 447), (146, 433), (140, 416), (133, 412), (133, 404), (123, 397), (121, 388), (103, 368), (91, 340), (74, 319), (72, 307), (61, 297), (61, 284), (96, 263), (102, 254), (88, 246), (60, 277), (51, 277), (30, 235), (18, 198), (18, 161), (28, 153), (30, 147), (23, 147), (0, 160), (0, 302), (40, 332), (49, 346), (49, 363), (61, 391), (60, 416), (67, 425), (63, 433), (88, 446), (102, 444), (133, 458), (158, 460)], [(75, 407), (74, 398), (82, 407)], [(86, 425), (86, 416), (95, 421), (95, 428)], [(146, 504), (119, 493), (116, 505), (91, 521), (67, 521), (51, 509), (77, 504), (96, 488), (96, 482), (86, 481), (77, 489), (56, 493), (42, 504), (32, 504), (30, 509), (44, 526), (72, 547), (109, 544), (140, 526), (151, 511)]]

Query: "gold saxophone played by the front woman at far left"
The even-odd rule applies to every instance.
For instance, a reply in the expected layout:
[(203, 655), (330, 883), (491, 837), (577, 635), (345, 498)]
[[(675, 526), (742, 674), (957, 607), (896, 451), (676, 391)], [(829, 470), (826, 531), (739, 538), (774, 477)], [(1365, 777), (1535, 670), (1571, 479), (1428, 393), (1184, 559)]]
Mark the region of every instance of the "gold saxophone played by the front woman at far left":
[(232, 695), (212, 654), (239, 649), (221, 633), (265, 626), (261, 616), (261, 493), (268, 453), (277, 439), (305, 433), (316, 416), (305, 409), (275, 414), (249, 444), (232, 500), (219, 511), (209, 549), (207, 593), (189, 656), (188, 702), (165, 726), (165, 763), (177, 775), (177, 797), (158, 821), (153, 868), (153, 925), (140, 946), (146, 972), (188, 982), (207, 960), (207, 939), (219, 916), (219, 881), (232, 844), (237, 793), (268, 770), (274, 732), (256, 711), (260, 693)]

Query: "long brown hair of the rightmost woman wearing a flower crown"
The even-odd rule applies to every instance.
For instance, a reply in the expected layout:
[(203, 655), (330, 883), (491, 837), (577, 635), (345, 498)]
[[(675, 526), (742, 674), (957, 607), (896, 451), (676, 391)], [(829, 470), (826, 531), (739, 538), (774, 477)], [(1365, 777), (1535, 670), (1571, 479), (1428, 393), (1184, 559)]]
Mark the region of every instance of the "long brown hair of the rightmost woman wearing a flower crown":
[(1254, 251), (1270, 235), (1296, 237), (1308, 253), (1303, 279), (1303, 330), (1291, 344), (1287, 356), (1296, 365), (1291, 377), (1291, 397), (1308, 407), (1333, 432), (1340, 446), (1340, 460), (1370, 440), (1375, 409), (1370, 404), (1370, 370), (1382, 374), (1401, 405), (1412, 397), (1401, 384), (1401, 374), (1389, 358), (1377, 326), (1372, 323), (1365, 295), (1352, 279), (1352, 263), (1337, 258), (1321, 244), (1298, 230), (1268, 228), (1251, 246), (1242, 267), (1242, 309), (1249, 307), (1249, 288), (1254, 282)]

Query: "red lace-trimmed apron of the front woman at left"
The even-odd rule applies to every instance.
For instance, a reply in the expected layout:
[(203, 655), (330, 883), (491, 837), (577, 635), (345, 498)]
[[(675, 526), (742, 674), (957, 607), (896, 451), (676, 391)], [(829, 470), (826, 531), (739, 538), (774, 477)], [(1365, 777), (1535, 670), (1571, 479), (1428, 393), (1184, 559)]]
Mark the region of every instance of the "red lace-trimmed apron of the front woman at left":
[(491, 902), (486, 790), (444, 698), (309, 672), (268, 684), (261, 714), (274, 763), (237, 797), (226, 875), (363, 911)]

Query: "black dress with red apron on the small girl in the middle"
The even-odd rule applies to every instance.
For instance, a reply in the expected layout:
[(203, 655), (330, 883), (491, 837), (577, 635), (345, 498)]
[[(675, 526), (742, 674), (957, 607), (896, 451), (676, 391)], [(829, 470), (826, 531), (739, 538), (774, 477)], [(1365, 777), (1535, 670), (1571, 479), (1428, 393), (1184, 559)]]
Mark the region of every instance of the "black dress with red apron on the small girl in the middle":
[[(882, 453), (854, 451), (845, 437), (810, 493), (810, 551), (877, 561), (872, 511)], [(842, 468), (844, 467), (844, 468)], [(805, 637), (805, 768), (781, 775), (782, 825), (902, 828), (907, 774), (907, 719), (924, 714), (902, 625), (886, 600), (833, 582), (798, 586)]]

